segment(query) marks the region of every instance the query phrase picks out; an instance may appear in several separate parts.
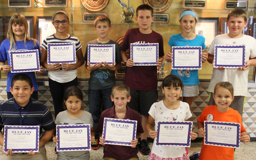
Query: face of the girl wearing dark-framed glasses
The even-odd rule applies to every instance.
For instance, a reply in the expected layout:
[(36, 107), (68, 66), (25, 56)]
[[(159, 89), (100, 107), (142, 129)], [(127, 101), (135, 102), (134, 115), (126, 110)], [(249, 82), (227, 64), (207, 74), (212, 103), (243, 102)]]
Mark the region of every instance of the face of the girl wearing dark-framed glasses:
[(66, 34), (67, 30), (68, 30), (68, 26), (69, 26), (69, 21), (68, 18), (65, 14), (55, 14), (54, 16), (54, 21), (67, 21), (67, 24), (63, 25), (62, 23), (60, 23), (59, 25), (56, 25), (54, 22), (52, 22), (52, 24), (54, 25), (55, 29), (56, 29), (56, 33), (58, 34)]

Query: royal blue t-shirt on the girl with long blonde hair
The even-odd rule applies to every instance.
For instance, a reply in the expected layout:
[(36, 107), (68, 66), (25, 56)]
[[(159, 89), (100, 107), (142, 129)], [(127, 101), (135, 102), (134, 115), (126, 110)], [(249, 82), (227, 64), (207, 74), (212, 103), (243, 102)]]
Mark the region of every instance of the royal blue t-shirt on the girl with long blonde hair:
[[(34, 50), (37, 49), (39, 53), (39, 60), (41, 58), (41, 51), (40, 51), (40, 46), (38, 42), (36, 43), (36, 46), (34, 46), (34, 43), (32, 41), (27, 41), (26, 46), (24, 45), (24, 41), (15, 41), (16, 43), (16, 50), (17, 51), (24, 51), (24, 50)], [(5, 62), (8, 60), (8, 65), (10, 65), (10, 40), (6, 39), (1, 43), (0, 46), (0, 61)], [(11, 49), (11, 51), (15, 51), (15, 49)], [(34, 91), (38, 91), (37, 87), (37, 82), (36, 82), (36, 76), (35, 72), (24, 72), (25, 74), (28, 74), (30, 78), (33, 81), (33, 87), (35, 88)], [(19, 74), (19, 73), (11, 73), (10, 71), (7, 73), (7, 87), (6, 87), (6, 92), (10, 92), (10, 87), (11, 87), (11, 79), (14, 75)]]

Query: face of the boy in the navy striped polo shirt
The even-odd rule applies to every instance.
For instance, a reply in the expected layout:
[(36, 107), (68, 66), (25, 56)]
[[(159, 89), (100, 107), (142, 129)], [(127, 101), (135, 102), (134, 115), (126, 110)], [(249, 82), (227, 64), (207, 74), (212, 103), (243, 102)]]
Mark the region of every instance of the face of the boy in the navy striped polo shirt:
[(30, 96), (34, 91), (34, 87), (30, 87), (26, 81), (15, 81), (13, 87), (10, 87), (11, 94), (15, 101), (20, 106), (26, 106), (29, 102)]

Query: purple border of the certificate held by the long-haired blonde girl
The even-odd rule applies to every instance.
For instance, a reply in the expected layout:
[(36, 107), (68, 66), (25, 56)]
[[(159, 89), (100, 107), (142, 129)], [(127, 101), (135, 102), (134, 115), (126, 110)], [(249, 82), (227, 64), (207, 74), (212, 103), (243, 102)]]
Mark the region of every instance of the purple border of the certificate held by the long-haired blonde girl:
[[(13, 69), (13, 57), (12, 54), (24, 54), (24, 53), (35, 53), (36, 52), (36, 65), (37, 68), (31, 68), (31, 69)], [(27, 51), (11, 51), (10, 52), (10, 64), (11, 64), (11, 72), (32, 72), (32, 71), (39, 71), (40, 70), (40, 64), (39, 64), (39, 55), (38, 50), (27, 50)]]

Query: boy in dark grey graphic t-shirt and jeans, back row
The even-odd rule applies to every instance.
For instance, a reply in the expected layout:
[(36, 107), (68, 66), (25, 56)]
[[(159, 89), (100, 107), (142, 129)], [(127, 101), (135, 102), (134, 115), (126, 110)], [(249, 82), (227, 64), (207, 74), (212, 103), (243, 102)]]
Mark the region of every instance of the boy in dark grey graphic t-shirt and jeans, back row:
[[(119, 44), (108, 38), (108, 33), (111, 31), (110, 19), (104, 15), (98, 16), (94, 20), (94, 29), (98, 34), (98, 38), (90, 41), (87, 44), (85, 51), (85, 67), (91, 71), (89, 79), (89, 112), (92, 114), (94, 127), (97, 127), (100, 118), (101, 101), (103, 102), (103, 110), (113, 107), (114, 103), (110, 99), (111, 91), (115, 86), (115, 70), (121, 67), (121, 57)], [(95, 48), (104, 49), (108, 45), (115, 45), (115, 62), (111, 61), (111, 65), (106, 62), (106, 59), (102, 59), (102, 56), (98, 56), (98, 63), (90, 64), (88, 59), (88, 50), (92, 57), (92, 51), (88, 45), (94, 45)], [(101, 52), (103, 54), (104, 52)], [(109, 55), (109, 57), (113, 57)], [(109, 59), (109, 57), (106, 57)], [(92, 60), (92, 58), (91, 58)], [(92, 61), (91, 61), (92, 62)], [(99, 148), (99, 133), (96, 132), (95, 142), (92, 143), (92, 149), (97, 150)]]

